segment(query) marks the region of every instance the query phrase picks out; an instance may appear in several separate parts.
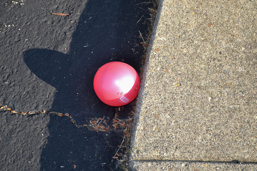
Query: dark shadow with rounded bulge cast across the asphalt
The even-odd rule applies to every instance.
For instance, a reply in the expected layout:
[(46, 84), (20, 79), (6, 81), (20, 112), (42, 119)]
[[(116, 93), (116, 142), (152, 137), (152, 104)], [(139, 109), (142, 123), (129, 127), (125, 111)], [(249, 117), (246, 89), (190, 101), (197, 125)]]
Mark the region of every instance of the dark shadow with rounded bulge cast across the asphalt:
[[(142, 9), (138, 3), (88, 1), (72, 34), (68, 54), (41, 48), (23, 53), (29, 69), (56, 89), (50, 110), (69, 112), (80, 123), (103, 116), (111, 121), (115, 107), (97, 98), (93, 78), (99, 67), (112, 61), (122, 61), (140, 70), (143, 48), (136, 45), (140, 42), (138, 29), (146, 33), (147, 24), (136, 22), (151, 4)], [(133, 105), (128, 104), (123, 113), (132, 111)], [(123, 133), (95, 133), (77, 129), (68, 121), (50, 116), (50, 135), (41, 155), (41, 170), (61, 170), (63, 166), (70, 169), (73, 164), (80, 170), (114, 170), (117, 163), (112, 162), (112, 156)]]

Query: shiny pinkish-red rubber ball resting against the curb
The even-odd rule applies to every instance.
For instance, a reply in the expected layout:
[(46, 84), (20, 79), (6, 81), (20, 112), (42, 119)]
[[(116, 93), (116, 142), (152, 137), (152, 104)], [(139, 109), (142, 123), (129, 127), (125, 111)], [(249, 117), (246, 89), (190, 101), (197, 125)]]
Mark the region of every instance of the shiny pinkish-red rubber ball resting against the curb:
[(139, 86), (136, 70), (123, 62), (104, 64), (94, 78), (97, 97), (110, 106), (123, 106), (132, 102), (138, 95)]

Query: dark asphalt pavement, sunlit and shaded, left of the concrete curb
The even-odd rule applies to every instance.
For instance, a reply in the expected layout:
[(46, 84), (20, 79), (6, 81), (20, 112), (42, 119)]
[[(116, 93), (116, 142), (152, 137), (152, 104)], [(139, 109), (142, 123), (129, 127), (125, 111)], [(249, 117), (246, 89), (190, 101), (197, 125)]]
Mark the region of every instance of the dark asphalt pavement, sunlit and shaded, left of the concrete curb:
[[(139, 72), (138, 30), (147, 37), (152, 7), (142, 2), (148, 1), (2, 1), (0, 103), (22, 112), (69, 112), (82, 125), (92, 117), (111, 123), (117, 108), (97, 98), (93, 78), (112, 61)], [(119, 116), (128, 117), (133, 106)], [(0, 170), (119, 170), (112, 156), (122, 130), (97, 133), (68, 117), (7, 111), (0, 111), (0, 122)]]

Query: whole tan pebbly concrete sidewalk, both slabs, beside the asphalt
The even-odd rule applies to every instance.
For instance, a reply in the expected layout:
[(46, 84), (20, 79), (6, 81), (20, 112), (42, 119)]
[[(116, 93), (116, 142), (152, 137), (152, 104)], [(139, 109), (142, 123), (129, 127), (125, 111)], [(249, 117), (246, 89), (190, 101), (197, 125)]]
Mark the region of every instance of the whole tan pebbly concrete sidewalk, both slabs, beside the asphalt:
[(257, 170), (256, 13), (253, 0), (160, 1), (130, 169)]

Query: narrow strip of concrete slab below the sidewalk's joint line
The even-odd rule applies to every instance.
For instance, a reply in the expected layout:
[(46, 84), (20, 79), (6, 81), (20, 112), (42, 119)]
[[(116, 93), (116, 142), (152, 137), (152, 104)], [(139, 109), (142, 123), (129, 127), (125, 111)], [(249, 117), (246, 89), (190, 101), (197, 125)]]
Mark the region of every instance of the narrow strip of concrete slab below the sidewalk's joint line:
[(185, 161), (151, 161), (130, 162), (132, 171), (210, 171), (210, 170), (233, 170), (233, 171), (256, 171), (257, 164), (253, 163), (215, 163), (215, 162), (185, 162)]

